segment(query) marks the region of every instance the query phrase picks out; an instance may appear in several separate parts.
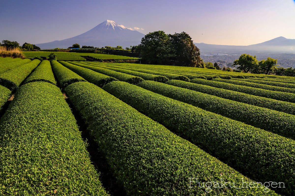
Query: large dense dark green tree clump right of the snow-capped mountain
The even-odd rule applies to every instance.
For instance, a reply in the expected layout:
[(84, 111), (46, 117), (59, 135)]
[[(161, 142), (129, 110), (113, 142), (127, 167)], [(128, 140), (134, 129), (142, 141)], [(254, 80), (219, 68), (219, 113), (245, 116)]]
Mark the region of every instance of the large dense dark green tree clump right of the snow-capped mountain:
[(170, 64), (171, 61), (183, 66), (198, 66), (202, 63), (200, 51), (191, 37), (185, 33), (166, 34), (164, 31), (155, 31), (145, 35), (137, 50), (142, 61), (151, 64)]

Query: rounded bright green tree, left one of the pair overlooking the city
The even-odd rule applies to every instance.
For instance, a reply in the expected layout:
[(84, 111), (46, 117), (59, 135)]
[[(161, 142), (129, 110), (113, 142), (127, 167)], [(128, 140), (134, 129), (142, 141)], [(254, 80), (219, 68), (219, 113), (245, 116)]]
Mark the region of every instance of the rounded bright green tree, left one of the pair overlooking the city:
[(259, 72), (259, 65), (256, 59), (256, 56), (251, 56), (250, 54), (242, 54), (239, 59), (234, 61), (233, 66), (237, 66), (237, 69), (248, 73), (257, 73)]

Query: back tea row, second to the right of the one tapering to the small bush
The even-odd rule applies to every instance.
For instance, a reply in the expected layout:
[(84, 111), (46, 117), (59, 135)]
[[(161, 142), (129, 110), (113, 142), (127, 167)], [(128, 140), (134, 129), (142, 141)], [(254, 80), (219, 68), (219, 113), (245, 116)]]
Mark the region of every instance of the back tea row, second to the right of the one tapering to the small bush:
[(142, 78), (137, 77), (137, 76), (132, 76), (132, 75), (129, 75), (129, 74), (126, 74), (126, 73), (120, 73), (120, 72), (117, 72), (117, 71), (112, 71), (112, 70), (100, 68), (100, 67), (97, 67), (97, 66), (96, 67), (95, 66), (90, 66), (90, 65), (84, 64), (83, 62), (81, 62), (83, 64), (77, 63), (77, 62), (71, 62), (71, 63), (73, 65), (88, 68), (88, 69), (91, 69), (91, 70), (96, 71), (98, 73), (102, 73), (104, 75), (114, 77), (114, 78), (118, 79), (119, 81), (128, 82), (130, 84), (138, 84), (141, 81), (143, 81)]

